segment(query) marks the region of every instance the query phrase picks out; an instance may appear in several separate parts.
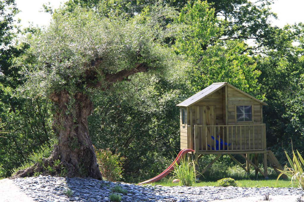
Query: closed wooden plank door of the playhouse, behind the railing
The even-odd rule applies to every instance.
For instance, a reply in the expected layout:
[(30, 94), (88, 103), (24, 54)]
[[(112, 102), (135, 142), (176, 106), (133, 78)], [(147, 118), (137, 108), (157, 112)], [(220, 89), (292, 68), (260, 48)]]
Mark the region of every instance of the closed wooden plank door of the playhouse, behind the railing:
[(196, 124), (202, 126), (200, 127), (201, 131), (199, 131), (199, 134), (202, 134), (199, 137), (200, 149), (210, 150), (214, 145), (211, 135), (214, 135), (215, 127), (207, 126), (216, 125), (215, 106), (196, 106)]

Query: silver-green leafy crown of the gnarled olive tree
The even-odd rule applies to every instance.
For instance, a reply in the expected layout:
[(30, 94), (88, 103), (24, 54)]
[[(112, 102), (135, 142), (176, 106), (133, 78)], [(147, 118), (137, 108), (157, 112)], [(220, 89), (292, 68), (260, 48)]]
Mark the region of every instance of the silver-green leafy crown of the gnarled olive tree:
[[(31, 96), (49, 96), (61, 90), (91, 91), (105, 88), (105, 76), (145, 65), (162, 70), (171, 66), (174, 54), (164, 48), (164, 38), (174, 26), (161, 26), (176, 15), (169, 7), (155, 7), (150, 15), (131, 19), (105, 18), (77, 8), (73, 13), (57, 10), (49, 27), (28, 35), (30, 48), (19, 59), (26, 82), (21, 91)], [(22, 61), (32, 58), (31, 63)]]

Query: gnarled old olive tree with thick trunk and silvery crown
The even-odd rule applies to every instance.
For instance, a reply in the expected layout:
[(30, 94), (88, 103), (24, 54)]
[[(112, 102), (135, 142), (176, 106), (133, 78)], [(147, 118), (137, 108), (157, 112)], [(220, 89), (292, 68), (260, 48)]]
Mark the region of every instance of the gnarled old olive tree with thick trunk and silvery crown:
[(129, 81), (133, 74), (163, 74), (174, 65), (177, 58), (163, 45), (175, 32), (174, 26), (162, 26), (174, 15), (169, 8), (155, 8), (149, 16), (126, 20), (103, 18), (81, 8), (73, 13), (63, 9), (53, 14), (45, 30), (27, 36), (30, 48), (19, 59), (25, 76), (20, 91), (53, 102), (52, 127), (58, 143), (49, 158), (14, 177), (48, 173), (45, 168), (59, 159), (67, 176), (102, 179), (88, 132), (91, 95), (112, 90), (113, 83)]

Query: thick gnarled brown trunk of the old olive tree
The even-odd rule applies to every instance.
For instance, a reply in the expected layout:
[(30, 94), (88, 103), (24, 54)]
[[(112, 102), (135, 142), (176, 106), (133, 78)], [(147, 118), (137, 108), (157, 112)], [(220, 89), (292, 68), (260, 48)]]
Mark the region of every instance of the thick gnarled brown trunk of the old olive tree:
[(50, 158), (60, 159), (69, 177), (102, 179), (88, 132), (87, 118), (93, 111), (91, 100), (82, 93), (71, 97), (67, 91), (54, 94), (52, 100), (53, 129), (59, 137)]

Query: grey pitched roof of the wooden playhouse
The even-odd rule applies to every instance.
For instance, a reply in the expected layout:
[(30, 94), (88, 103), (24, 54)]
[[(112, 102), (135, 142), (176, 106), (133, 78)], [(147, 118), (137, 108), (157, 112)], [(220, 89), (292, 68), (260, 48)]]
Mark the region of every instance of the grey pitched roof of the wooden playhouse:
[(192, 95), (190, 98), (182, 101), (181, 103), (179, 103), (176, 106), (179, 107), (189, 107), (192, 104), (195, 104), (198, 101), (201, 101), (202, 99), (206, 98), (208, 95), (214, 93), (215, 91), (219, 90), (220, 88), (222, 88), (223, 86), (229, 86), (231, 88), (233, 88), (236, 91), (239, 91), (240, 93), (247, 95), (249, 98), (263, 104), (263, 105), (267, 105), (266, 103), (262, 102), (261, 100), (258, 100), (257, 98), (252, 97), (251, 95), (245, 93), (244, 91), (241, 91), (238, 88), (235, 88), (234, 86), (228, 84), (227, 82), (221, 82), (221, 83), (213, 83), (211, 85), (209, 85), (207, 88), (204, 88), (202, 91), (199, 91), (198, 93), (196, 93), (195, 95)]

